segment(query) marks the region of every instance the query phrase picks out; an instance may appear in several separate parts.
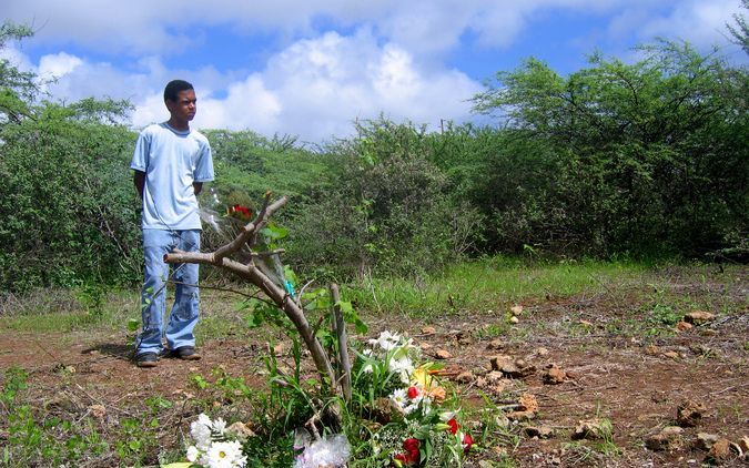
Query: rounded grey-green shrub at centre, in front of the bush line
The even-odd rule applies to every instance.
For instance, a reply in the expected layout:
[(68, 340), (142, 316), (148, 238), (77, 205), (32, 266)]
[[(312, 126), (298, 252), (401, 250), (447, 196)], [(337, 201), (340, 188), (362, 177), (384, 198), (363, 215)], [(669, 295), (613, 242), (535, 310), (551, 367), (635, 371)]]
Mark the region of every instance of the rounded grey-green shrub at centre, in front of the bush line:
[(424, 130), (383, 120), (357, 129), (328, 149), (327, 183), (289, 220), (295, 263), (343, 277), (412, 274), (470, 248), (480, 216), (453, 199)]

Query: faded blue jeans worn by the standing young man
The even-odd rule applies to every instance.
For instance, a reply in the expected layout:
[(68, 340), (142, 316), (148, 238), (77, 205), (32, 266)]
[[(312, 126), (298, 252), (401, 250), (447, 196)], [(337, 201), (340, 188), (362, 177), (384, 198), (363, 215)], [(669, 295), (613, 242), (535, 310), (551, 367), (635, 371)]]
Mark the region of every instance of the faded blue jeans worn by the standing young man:
[(143, 328), (138, 336), (135, 354), (161, 353), (162, 337), (170, 349), (195, 346), (193, 328), (198, 323), (200, 295), (198, 291), (198, 264), (173, 264), (172, 279), (175, 283), (174, 305), (164, 329), (165, 289), (170, 264), (164, 255), (175, 248), (185, 252), (200, 251), (200, 230), (164, 231), (143, 230), (145, 281), (141, 292)]

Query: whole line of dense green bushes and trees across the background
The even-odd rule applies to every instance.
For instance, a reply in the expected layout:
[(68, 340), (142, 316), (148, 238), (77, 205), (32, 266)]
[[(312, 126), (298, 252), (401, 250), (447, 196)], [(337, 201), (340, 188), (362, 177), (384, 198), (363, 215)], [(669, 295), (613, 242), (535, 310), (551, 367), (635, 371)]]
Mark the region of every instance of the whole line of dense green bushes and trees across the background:
[[(3, 26), (0, 48), (29, 31)], [(338, 279), (470, 256), (747, 252), (746, 68), (664, 42), (561, 77), (534, 59), (474, 98), (495, 126), (358, 122), (312, 150), (206, 131), (222, 203), (290, 195), (286, 260)], [(128, 102), (43, 101), (0, 63), (0, 289), (140, 281)], [(201, 195), (202, 203), (210, 194)], [(206, 245), (219, 242), (205, 231)]]

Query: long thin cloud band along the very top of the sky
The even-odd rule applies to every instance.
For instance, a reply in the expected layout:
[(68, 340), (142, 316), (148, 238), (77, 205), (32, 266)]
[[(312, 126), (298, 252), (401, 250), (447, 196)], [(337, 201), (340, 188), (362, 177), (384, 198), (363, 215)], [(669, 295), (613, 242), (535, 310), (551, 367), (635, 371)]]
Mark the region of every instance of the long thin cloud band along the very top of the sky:
[(532, 13), (544, 9), (588, 14), (664, 1), (668, 0), (198, 0), (189, 4), (176, 0), (4, 0), (3, 10), (13, 21), (33, 22), (34, 40), (65, 41), (110, 53), (184, 53), (200, 44), (211, 27), (240, 35), (273, 33), (289, 45), (320, 34), (316, 28), (323, 20), (335, 28), (372, 28), (381, 40), (412, 53), (439, 54), (455, 50), (468, 31), (482, 44), (507, 47)]

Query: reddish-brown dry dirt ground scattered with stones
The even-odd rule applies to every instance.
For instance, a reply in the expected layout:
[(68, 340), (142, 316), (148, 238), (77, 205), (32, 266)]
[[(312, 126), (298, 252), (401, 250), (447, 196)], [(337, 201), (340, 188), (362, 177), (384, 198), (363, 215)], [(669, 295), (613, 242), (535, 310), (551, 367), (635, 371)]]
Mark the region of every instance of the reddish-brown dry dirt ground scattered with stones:
[[(499, 426), (508, 425), (506, 434), (519, 437), (505, 445), (484, 446), (467, 466), (701, 466), (709, 457), (695, 446), (699, 433), (733, 442), (749, 436), (749, 285), (743, 276), (730, 291), (719, 282), (674, 281), (670, 288), (695, 303), (719, 294), (732, 306), (728, 312), (720, 307), (707, 311), (715, 314), (712, 319), (679, 332), (674, 326), (648, 325), (642, 291), (603, 291), (593, 296), (517, 304), (523, 311), (512, 325), (505, 315), (507, 305), (498, 306), (505, 307), (502, 313), (460, 312), (428, 321), (383, 315), (364, 318), (370, 335), (399, 330), (414, 337), (427, 356), (436, 358), (438, 352), (447, 352), (449, 356), (442, 360), (466, 406), (479, 407), (485, 395), (508, 410), (523, 409), (514, 406), (519, 396), (535, 397), (538, 408), (533, 419), (498, 421)], [(158, 437), (162, 448), (175, 447), (180, 429), (184, 430), (200, 410), (190, 404), (196, 390), (188, 375), (210, 380), (212, 372), (222, 368), (229, 375), (243, 376), (250, 385), (263, 385), (264, 345), (252, 338), (209, 340), (202, 346), (202, 360), (163, 359), (154, 369), (134, 367), (124, 343), (124, 334), (0, 330), (0, 370), (10, 366), (27, 369), (29, 401), (45, 408), (61, 405), (81, 418), (98, 408), (94, 405), (104, 408), (105, 416), (98, 417), (115, 421), (136, 416), (146, 397), (160, 395), (181, 401), (175, 405), (180, 410), (161, 419), (163, 430)], [(502, 376), (490, 373), (490, 360), (497, 355), (522, 372), (499, 379)], [(516, 363), (518, 358), (523, 362)], [(556, 384), (548, 383), (551, 364), (561, 372)], [(647, 448), (648, 438), (677, 425), (677, 408), (685, 401), (700, 408), (695, 426), (667, 438), (664, 449)], [(573, 440), (579, 423), (594, 418), (610, 420), (610, 444)], [(539, 438), (528, 435), (527, 426), (553, 433)], [(513, 440), (517, 445), (510, 444)], [(717, 462), (747, 465), (746, 459), (731, 454)], [(90, 466), (117, 466), (117, 459), (91, 460)]]

